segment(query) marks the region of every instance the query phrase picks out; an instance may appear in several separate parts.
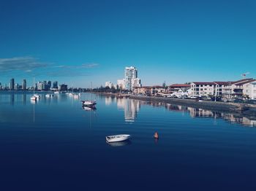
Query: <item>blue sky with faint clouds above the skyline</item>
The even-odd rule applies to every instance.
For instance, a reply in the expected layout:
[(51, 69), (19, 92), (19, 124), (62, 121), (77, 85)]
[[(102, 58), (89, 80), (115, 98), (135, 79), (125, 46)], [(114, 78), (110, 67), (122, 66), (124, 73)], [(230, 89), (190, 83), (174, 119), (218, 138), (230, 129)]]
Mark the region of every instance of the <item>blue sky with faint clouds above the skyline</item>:
[(0, 82), (256, 77), (256, 1), (0, 1)]

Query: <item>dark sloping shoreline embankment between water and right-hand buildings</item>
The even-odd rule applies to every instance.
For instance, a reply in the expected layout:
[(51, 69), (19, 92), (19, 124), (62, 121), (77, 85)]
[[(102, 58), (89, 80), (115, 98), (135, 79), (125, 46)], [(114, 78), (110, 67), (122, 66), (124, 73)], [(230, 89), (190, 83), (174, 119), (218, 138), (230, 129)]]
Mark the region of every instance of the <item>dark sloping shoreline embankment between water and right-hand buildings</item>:
[(197, 109), (208, 109), (213, 112), (228, 112), (242, 114), (244, 116), (253, 117), (256, 119), (256, 105), (254, 104), (237, 104), (225, 103), (219, 101), (196, 101), (195, 99), (182, 98), (163, 98), (156, 96), (140, 96), (132, 94), (119, 93), (95, 93), (98, 95), (115, 96), (117, 98), (132, 98), (141, 101), (162, 102), (165, 104), (175, 104), (181, 106), (191, 106)]

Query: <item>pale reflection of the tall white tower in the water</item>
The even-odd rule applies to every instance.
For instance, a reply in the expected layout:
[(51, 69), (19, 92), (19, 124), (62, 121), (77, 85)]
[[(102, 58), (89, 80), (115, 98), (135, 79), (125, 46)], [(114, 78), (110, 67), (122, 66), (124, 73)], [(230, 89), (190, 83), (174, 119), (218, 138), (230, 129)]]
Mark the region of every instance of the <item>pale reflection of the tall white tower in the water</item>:
[(118, 109), (124, 109), (124, 120), (134, 122), (140, 110), (140, 101), (129, 98), (118, 98), (116, 100)]

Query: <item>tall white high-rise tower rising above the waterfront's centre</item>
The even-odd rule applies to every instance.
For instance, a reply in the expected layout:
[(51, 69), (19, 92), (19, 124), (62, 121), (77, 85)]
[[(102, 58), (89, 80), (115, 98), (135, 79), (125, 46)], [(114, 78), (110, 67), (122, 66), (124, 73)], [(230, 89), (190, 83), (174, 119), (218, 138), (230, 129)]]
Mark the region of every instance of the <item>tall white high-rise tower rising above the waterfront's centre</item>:
[(134, 66), (125, 67), (124, 87), (129, 91), (134, 87), (141, 87), (141, 81), (138, 78), (138, 70)]

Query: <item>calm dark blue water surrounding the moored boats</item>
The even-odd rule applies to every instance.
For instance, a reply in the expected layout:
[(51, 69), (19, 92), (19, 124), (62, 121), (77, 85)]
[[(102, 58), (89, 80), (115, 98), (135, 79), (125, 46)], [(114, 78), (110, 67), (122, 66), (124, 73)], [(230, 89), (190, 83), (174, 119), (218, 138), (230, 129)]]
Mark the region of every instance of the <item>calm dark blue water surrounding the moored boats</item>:
[[(256, 189), (255, 120), (99, 95), (96, 110), (65, 94), (30, 96), (0, 93), (0, 190)], [(118, 133), (132, 139), (105, 142)]]

